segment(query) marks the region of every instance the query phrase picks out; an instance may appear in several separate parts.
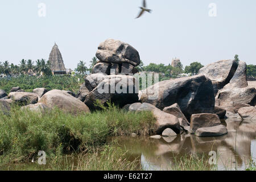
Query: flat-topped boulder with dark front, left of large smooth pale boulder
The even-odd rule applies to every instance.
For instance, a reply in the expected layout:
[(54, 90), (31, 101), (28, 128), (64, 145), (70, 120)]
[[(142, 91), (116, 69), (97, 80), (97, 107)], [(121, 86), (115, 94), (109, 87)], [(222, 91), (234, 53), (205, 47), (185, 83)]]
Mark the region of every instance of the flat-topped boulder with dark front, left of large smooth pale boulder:
[(10, 92), (8, 98), (20, 105), (36, 104), (38, 94), (30, 92)]

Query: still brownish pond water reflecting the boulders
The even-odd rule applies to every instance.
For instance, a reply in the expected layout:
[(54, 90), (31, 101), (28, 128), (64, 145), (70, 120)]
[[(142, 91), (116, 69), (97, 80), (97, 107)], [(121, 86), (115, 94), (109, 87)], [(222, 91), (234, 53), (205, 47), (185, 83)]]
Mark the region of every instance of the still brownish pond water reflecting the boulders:
[(141, 159), (144, 170), (170, 170), (175, 165), (174, 156), (208, 156), (210, 151), (217, 152), (218, 170), (244, 170), (251, 158), (256, 162), (256, 121), (229, 119), (224, 125), (229, 132), (221, 137), (200, 138), (189, 134), (161, 139), (122, 137), (118, 143), (125, 147), (127, 155)]

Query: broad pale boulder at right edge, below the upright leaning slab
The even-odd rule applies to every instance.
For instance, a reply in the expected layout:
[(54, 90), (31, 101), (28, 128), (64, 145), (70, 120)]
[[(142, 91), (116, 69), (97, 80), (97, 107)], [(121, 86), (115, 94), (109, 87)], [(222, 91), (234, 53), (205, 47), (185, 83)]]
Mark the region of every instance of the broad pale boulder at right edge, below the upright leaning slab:
[(237, 113), (241, 107), (255, 106), (255, 104), (256, 89), (253, 86), (245, 88), (225, 87), (219, 90), (216, 96), (216, 105), (233, 113)]

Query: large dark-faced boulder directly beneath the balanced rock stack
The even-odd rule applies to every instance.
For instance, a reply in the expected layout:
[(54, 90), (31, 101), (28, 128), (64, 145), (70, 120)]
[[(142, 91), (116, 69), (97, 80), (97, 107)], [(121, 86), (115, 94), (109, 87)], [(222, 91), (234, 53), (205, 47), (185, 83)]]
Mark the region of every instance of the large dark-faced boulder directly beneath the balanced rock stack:
[(100, 82), (85, 98), (90, 109), (96, 109), (94, 102), (102, 104), (111, 101), (119, 107), (138, 102), (138, 81), (132, 76), (110, 75)]

